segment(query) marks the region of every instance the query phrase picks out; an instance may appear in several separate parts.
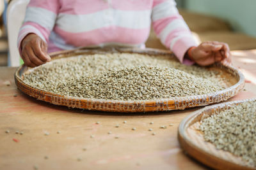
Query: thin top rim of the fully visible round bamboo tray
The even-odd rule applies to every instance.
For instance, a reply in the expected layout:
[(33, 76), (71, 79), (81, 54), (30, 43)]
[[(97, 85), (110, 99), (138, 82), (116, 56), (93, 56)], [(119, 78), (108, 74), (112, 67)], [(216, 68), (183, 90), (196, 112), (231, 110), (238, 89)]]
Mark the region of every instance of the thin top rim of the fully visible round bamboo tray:
[[(65, 50), (65, 51), (61, 51), (61, 52), (53, 52), (50, 53), (52, 58), (62, 58), (64, 55), (71, 55), (71, 56), (76, 56), (79, 55), (80, 53), (84, 53), (84, 52), (93, 52), (93, 50), (95, 50), (94, 53), (97, 52), (129, 52), (129, 53), (147, 53), (150, 52), (150, 54), (148, 55), (173, 55), (172, 52), (168, 51), (168, 50), (159, 50), (159, 49), (154, 49), (154, 48), (145, 48), (145, 49), (141, 49), (141, 48), (77, 48), (77, 50)], [(70, 56), (67, 56), (70, 57)], [(36, 92), (38, 93), (43, 93), (45, 94), (45, 96), (48, 97), (59, 97), (60, 99), (69, 99), (71, 101), (83, 101), (83, 102), (87, 102), (87, 103), (118, 103), (118, 104), (143, 104), (144, 106), (147, 104), (154, 104), (157, 102), (170, 102), (170, 103), (179, 103), (181, 101), (186, 101), (186, 100), (198, 100), (198, 99), (205, 99), (205, 97), (216, 97), (216, 96), (221, 96), (221, 94), (224, 94), (225, 92), (232, 92), (232, 90), (239, 88), (239, 90), (243, 89), (244, 86), (244, 76), (241, 73), (241, 71), (239, 71), (238, 69), (236, 69), (236, 67), (228, 65), (228, 64), (223, 64), (223, 63), (216, 63), (214, 64), (217, 67), (227, 67), (228, 69), (233, 71), (233, 74), (237, 74), (239, 81), (237, 81), (236, 84), (232, 85), (231, 87), (228, 87), (227, 89), (224, 90), (220, 90), (218, 92), (212, 92), (210, 94), (204, 94), (204, 95), (195, 95), (195, 96), (186, 96), (186, 97), (169, 97), (169, 98), (165, 98), (165, 99), (150, 99), (150, 100), (131, 100), (131, 101), (125, 101), (125, 100), (107, 100), (107, 99), (91, 99), (91, 98), (84, 98), (84, 97), (72, 97), (72, 96), (63, 96), (60, 94), (56, 94), (53, 92), (47, 92), (45, 90), (41, 90), (38, 89), (37, 87), (32, 87), (31, 85), (28, 85), (26, 83), (24, 83), (24, 81), (22, 81), (21, 78), (21, 72), (24, 71), (24, 69), (28, 69), (27, 66), (25, 66), (24, 64), (20, 67), (17, 68), (17, 70), (15, 71), (15, 83), (19, 88), (19, 85), (22, 85), (23, 87), (28, 87), (31, 89), (35, 89)], [(20, 89), (20, 88), (19, 88)], [(24, 91), (23, 91), (24, 92)], [(29, 94), (28, 94), (29, 95)], [(204, 106), (204, 105), (200, 105), (200, 106)], [(193, 106), (190, 106), (193, 107)]]

